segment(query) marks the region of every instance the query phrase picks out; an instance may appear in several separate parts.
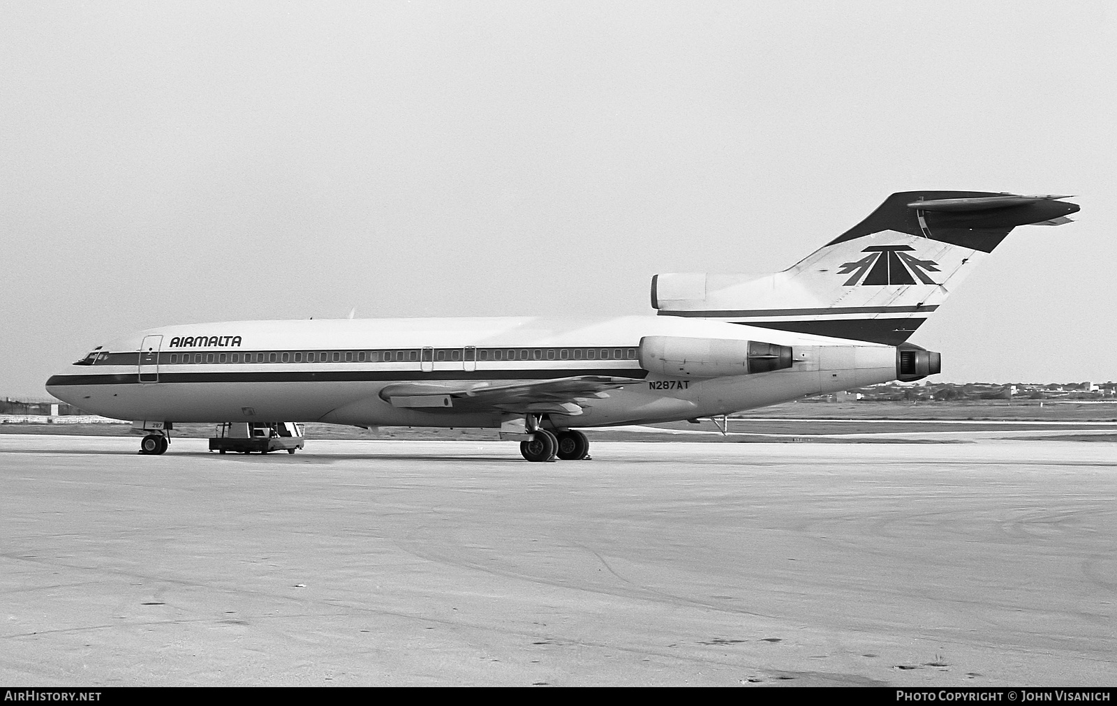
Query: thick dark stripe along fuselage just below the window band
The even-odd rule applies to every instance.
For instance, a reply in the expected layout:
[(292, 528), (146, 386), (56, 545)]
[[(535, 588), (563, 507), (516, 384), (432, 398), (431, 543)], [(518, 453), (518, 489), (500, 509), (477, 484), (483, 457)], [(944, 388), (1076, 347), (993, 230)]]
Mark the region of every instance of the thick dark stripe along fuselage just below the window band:
[[(428, 380), (557, 380), (560, 378), (576, 378), (580, 375), (607, 375), (613, 378), (631, 378), (643, 380), (648, 371), (642, 369), (595, 369), (595, 370), (484, 370), (467, 372), (464, 370), (436, 370), (421, 372), (418, 370), (398, 371), (289, 371), (289, 372), (217, 372), (203, 373), (159, 373), (159, 383), (189, 382), (400, 382)], [(135, 373), (104, 375), (51, 375), (47, 387), (59, 385), (120, 385), (139, 384), (140, 376)], [(144, 383), (149, 384), (149, 383)]]

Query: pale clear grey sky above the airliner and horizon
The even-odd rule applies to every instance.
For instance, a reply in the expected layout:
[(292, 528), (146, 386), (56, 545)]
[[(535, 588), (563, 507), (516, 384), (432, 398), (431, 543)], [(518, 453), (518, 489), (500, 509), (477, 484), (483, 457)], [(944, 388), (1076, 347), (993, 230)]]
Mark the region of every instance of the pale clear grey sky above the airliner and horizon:
[(916, 189), (1077, 194), (911, 337), (1117, 379), (1098, 2), (6, 2), (0, 395), (245, 318), (651, 314)]

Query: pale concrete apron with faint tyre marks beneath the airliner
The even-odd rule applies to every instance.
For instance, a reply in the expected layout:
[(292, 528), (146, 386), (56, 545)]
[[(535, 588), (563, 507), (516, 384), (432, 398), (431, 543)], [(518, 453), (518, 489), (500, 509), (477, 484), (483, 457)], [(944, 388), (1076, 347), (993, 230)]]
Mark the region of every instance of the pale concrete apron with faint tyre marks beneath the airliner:
[(4, 435), (0, 683), (1111, 685), (1117, 446), (971, 440)]

